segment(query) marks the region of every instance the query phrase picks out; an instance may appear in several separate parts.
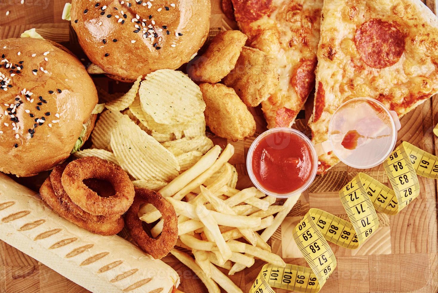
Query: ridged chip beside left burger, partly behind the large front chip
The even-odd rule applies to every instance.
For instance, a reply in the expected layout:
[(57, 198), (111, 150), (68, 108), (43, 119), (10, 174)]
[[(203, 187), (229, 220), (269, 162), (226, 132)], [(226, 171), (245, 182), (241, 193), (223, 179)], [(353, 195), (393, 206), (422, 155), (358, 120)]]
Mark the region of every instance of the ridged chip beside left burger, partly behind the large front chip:
[(111, 151), (111, 146), (109, 145), (111, 132), (116, 127), (117, 121), (122, 117), (123, 114), (119, 111), (106, 110), (100, 114), (91, 135), (94, 148)]

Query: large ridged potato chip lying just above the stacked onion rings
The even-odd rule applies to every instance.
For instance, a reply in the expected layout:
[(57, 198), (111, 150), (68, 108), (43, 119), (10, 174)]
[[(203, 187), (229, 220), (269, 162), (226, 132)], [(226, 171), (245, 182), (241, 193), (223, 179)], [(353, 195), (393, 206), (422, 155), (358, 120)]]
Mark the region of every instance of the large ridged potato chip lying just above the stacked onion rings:
[(111, 132), (111, 148), (120, 167), (137, 180), (169, 182), (179, 175), (176, 157), (134, 121), (120, 119), (117, 122)]

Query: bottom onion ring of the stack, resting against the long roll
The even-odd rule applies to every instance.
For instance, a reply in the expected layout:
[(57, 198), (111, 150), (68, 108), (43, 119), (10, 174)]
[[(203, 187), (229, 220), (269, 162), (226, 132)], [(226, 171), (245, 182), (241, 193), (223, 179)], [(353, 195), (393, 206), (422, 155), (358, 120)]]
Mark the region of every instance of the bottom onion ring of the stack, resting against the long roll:
[(85, 230), (107, 236), (117, 234), (124, 227), (123, 217), (121, 216), (113, 222), (106, 223), (91, 222), (75, 216), (69, 210), (65, 209), (63, 201), (55, 194), (50, 178), (47, 178), (46, 181), (42, 183), (39, 193), (42, 199), (53, 209), (53, 211)]

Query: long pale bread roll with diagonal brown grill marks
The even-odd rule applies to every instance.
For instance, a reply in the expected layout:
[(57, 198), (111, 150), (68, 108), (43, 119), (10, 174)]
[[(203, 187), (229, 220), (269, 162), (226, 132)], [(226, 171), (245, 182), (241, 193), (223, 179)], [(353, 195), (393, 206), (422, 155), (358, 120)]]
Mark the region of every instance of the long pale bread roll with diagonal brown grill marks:
[(92, 292), (170, 293), (170, 266), (119, 236), (85, 231), (0, 173), (0, 239)]

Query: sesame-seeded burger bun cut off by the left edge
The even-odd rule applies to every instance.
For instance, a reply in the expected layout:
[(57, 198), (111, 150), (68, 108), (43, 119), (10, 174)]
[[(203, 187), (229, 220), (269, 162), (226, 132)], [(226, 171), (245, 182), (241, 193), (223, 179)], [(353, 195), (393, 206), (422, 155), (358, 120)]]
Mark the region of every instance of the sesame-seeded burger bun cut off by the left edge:
[(0, 40), (1, 172), (24, 177), (49, 170), (94, 126), (94, 83), (81, 62), (56, 45)]

